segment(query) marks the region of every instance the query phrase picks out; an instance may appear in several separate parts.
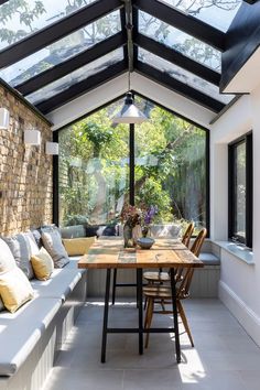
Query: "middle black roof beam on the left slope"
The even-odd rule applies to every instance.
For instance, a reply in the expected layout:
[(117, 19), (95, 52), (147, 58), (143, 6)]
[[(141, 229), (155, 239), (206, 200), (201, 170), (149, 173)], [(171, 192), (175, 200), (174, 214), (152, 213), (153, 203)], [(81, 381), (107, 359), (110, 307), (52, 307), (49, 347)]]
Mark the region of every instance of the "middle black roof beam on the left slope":
[(87, 65), (107, 53), (122, 46), (123, 44), (126, 44), (126, 37), (120, 32), (100, 43), (97, 43), (95, 46), (84, 51), (73, 58), (46, 69), (40, 75), (34, 76), (20, 85), (17, 85), (14, 88), (23, 95), (30, 95), (45, 85), (55, 82), (56, 79), (66, 76), (79, 67)]

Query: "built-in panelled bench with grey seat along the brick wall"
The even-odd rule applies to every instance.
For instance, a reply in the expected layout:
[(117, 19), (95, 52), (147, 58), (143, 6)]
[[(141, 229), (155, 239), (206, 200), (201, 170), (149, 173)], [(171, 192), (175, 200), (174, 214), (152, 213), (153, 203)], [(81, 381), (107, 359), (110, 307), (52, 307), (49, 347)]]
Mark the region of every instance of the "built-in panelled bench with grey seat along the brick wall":
[(86, 271), (79, 257), (33, 280), (35, 297), (17, 313), (0, 312), (0, 390), (40, 390), (86, 301)]

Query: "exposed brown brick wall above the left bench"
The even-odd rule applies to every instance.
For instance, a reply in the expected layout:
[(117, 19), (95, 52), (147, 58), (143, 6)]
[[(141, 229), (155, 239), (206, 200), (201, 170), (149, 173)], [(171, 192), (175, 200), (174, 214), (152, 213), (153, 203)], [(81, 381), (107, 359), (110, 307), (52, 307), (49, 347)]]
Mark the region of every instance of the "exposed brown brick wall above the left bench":
[[(10, 127), (0, 129), (0, 235), (24, 231), (52, 223), (52, 140), (46, 121), (0, 85), (0, 107), (10, 111)], [(41, 147), (23, 143), (23, 131), (41, 131)]]

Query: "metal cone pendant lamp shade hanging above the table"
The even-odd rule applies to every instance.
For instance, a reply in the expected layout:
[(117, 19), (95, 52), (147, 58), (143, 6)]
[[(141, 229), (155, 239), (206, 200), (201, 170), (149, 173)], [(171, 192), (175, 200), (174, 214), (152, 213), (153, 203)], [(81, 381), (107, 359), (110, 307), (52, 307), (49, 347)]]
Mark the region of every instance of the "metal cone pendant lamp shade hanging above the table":
[(142, 113), (133, 104), (133, 96), (129, 91), (127, 93), (123, 107), (119, 113), (112, 119), (113, 123), (142, 123), (148, 118)]

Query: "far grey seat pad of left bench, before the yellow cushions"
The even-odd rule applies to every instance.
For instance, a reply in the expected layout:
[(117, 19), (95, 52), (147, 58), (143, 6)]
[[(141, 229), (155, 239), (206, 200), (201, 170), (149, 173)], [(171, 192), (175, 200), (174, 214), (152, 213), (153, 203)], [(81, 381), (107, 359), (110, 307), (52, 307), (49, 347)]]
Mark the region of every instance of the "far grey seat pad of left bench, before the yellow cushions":
[(82, 272), (77, 269), (55, 269), (48, 280), (34, 279), (31, 284), (36, 296), (58, 297), (65, 301), (80, 279)]

